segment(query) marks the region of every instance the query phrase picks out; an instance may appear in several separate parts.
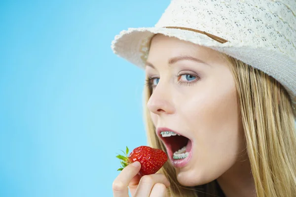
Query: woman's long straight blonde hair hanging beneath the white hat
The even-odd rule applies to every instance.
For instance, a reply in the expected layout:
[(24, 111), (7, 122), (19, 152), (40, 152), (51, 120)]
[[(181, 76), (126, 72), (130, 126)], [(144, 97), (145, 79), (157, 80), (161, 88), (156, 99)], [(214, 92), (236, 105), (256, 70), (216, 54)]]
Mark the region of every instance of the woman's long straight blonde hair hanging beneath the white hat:
[[(296, 196), (296, 128), (291, 99), (274, 78), (242, 61), (221, 54), (230, 66), (237, 89), (245, 143), (257, 197)], [(151, 147), (166, 152), (155, 134), (147, 108), (151, 90), (144, 89), (144, 118)], [(170, 197), (218, 197), (217, 180), (196, 187), (178, 183), (174, 167), (160, 170), (171, 183)]]

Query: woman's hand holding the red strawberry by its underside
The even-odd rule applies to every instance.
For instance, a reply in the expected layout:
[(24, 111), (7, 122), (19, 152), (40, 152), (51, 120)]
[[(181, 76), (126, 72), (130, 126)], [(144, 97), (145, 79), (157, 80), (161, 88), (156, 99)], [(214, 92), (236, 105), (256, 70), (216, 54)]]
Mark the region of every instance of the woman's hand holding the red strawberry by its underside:
[(128, 197), (128, 188), (132, 197), (166, 197), (166, 188), (170, 186), (168, 179), (160, 173), (141, 177), (140, 169), (140, 162), (123, 168), (113, 182), (113, 197)]

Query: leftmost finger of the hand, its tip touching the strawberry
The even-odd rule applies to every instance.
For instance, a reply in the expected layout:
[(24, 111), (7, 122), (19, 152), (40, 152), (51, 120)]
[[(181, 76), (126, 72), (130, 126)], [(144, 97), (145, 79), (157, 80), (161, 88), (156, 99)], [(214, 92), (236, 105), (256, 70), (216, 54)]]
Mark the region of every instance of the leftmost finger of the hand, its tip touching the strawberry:
[(140, 162), (129, 164), (120, 172), (112, 184), (113, 197), (128, 197), (128, 184), (141, 169)]

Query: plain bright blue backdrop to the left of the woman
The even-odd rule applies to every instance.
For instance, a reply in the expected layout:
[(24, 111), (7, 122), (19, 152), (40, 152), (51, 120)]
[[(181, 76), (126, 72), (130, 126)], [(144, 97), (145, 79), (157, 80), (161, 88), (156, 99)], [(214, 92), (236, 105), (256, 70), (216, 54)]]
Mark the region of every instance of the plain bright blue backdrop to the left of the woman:
[(116, 152), (145, 145), (144, 71), (111, 41), (170, 0), (1, 0), (0, 197), (111, 197)]

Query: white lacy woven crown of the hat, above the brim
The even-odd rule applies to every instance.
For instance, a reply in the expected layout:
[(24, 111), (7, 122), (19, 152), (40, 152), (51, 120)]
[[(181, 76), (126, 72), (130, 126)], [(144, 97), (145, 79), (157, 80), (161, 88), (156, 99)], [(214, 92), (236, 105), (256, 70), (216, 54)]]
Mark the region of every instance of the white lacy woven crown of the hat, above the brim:
[(232, 46), (268, 48), (296, 61), (295, 0), (172, 0), (155, 25), (166, 26), (205, 31)]

